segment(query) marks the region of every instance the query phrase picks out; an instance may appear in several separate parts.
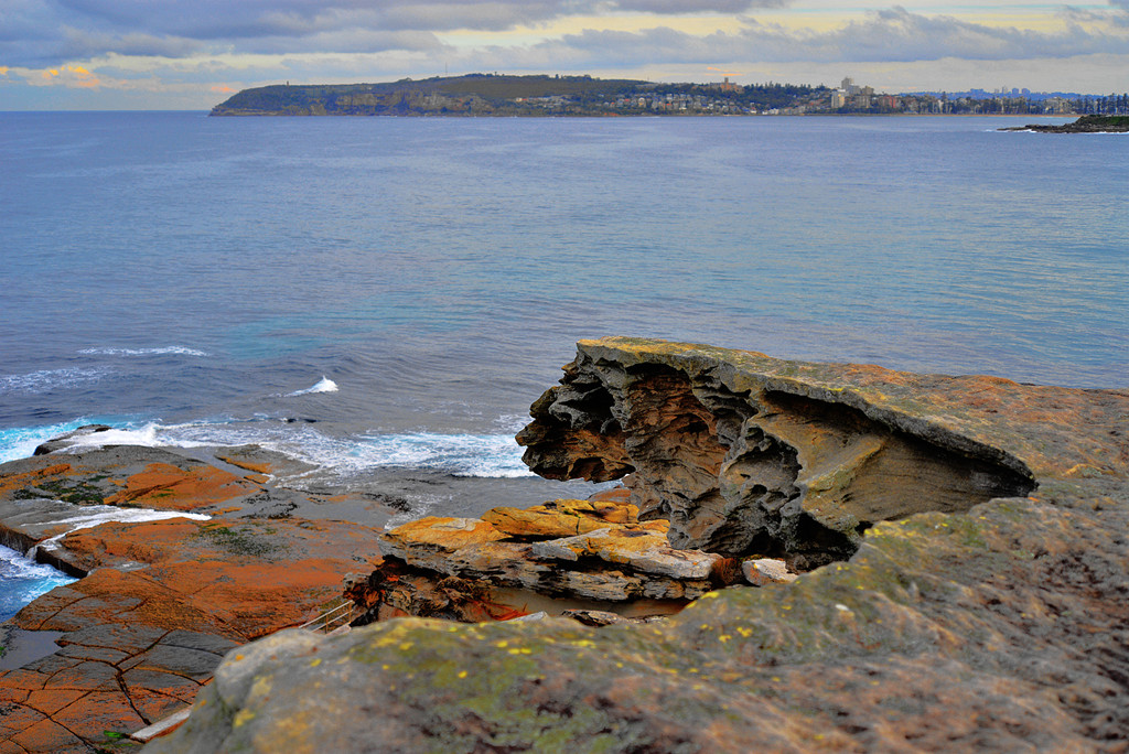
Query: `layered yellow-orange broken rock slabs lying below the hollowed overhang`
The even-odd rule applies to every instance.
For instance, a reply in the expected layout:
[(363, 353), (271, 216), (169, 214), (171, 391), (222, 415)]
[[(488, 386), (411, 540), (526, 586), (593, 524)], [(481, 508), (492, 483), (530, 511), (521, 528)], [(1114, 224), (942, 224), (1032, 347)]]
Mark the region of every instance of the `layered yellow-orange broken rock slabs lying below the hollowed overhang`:
[[(493, 508), (481, 519), (428, 517), (382, 537), (385, 560), (350, 597), (361, 622), (417, 615), (500, 620), (536, 610), (669, 614), (743, 578), (742, 566), (675, 550), (669, 524), (639, 521), (636, 506), (609, 499)], [(788, 580), (781, 561), (749, 564), (753, 584)]]

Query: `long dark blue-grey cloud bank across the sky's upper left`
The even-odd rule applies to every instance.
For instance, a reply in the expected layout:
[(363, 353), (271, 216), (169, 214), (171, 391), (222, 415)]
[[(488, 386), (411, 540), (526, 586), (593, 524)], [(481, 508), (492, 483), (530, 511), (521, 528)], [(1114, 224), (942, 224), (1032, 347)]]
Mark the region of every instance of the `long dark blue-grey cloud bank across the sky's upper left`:
[[(322, 45), (356, 51), (361, 40), (392, 49), (393, 37), (504, 32), (605, 14), (743, 14), (790, 0), (0, 0), (0, 60), (51, 65), (102, 54), (185, 56), (204, 50), (277, 53)], [(404, 49), (412, 37), (400, 37)], [(405, 42), (406, 41), (406, 42)]]

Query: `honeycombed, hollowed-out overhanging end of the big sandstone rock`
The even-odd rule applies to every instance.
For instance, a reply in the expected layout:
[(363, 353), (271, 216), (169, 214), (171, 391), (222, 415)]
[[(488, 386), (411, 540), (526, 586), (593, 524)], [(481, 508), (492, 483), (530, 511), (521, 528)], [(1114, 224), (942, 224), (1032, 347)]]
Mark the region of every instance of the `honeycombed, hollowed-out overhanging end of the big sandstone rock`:
[[(721, 353), (581, 342), (518, 435), (526, 463), (550, 479), (625, 477), (642, 517), (669, 519), (675, 547), (781, 555), (800, 569), (849, 556), (876, 521), (1034, 488), (1026, 464), (974, 427), (844, 389), (826, 365)], [(931, 379), (847, 369), (892, 387)]]

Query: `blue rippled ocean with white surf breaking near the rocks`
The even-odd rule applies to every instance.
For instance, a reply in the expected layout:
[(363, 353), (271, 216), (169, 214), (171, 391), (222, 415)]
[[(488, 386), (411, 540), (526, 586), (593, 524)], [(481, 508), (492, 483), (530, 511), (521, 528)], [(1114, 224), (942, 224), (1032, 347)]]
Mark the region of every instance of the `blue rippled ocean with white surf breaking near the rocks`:
[(1030, 120), (0, 113), (0, 461), (102, 422), (410, 517), (586, 494), (513, 436), (610, 334), (1123, 387), (1129, 138)]

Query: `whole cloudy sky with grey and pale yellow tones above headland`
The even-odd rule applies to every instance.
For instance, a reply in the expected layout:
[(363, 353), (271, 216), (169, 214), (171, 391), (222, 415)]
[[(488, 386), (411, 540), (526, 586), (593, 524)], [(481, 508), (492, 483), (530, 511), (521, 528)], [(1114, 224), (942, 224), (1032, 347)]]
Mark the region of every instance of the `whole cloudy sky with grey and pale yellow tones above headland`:
[(1129, 90), (1129, 0), (0, 0), (0, 111), (471, 72)]

